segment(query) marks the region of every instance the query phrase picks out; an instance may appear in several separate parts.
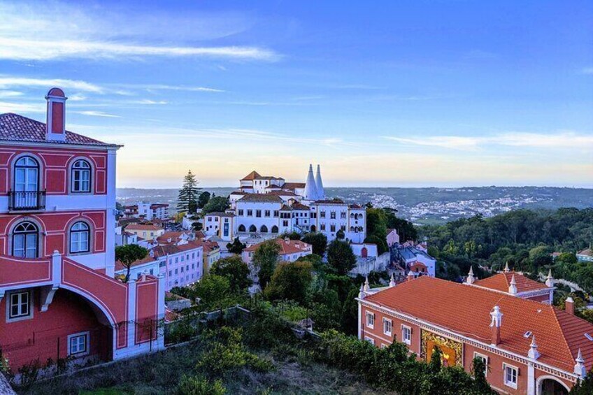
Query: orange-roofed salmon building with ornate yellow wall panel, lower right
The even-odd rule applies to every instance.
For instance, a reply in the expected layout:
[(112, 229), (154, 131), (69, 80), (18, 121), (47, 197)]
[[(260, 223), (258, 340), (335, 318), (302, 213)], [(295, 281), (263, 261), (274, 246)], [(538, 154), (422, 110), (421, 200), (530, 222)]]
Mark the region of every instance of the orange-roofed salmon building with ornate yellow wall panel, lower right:
[[(517, 278), (515, 287), (534, 287)], [(593, 324), (573, 315), (570, 299), (566, 311), (559, 310), (485, 287), (486, 280), (476, 286), (420, 276), (383, 289), (367, 284), (358, 299), (358, 336), (377, 347), (403, 342), (426, 360), (437, 346), (443, 364), (468, 372), (480, 357), (487, 380), (502, 394), (567, 394), (592, 368)]]

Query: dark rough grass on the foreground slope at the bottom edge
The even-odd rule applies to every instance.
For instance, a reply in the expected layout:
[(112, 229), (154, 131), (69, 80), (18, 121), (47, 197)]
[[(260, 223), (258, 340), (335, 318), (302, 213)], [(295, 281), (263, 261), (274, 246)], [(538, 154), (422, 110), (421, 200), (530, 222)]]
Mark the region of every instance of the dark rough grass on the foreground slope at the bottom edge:
[[(181, 376), (195, 372), (200, 343), (192, 343), (136, 359), (115, 362), (73, 375), (36, 382), (18, 394), (173, 394)], [(224, 380), (227, 394), (365, 394), (373, 391), (355, 375), (298, 357), (275, 357), (274, 371), (259, 373), (243, 368)]]

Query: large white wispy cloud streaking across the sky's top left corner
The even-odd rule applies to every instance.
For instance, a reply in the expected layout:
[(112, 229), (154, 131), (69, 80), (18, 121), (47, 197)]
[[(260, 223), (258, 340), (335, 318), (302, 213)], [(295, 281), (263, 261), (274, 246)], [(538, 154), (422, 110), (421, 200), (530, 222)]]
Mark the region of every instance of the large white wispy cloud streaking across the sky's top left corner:
[[(199, 57), (275, 61), (280, 57), (273, 50), (250, 45), (187, 44), (248, 29), (252, 22), (243, 15), (179, 15), (165, 11), (147, 14), (143, 10), (122, 7), (113, 10), (99, 4), (84, 7), (57, 2), (35, 6), (21, 2), (0, 3), (0, 59)], [(59, 22), (56, 22), (57, 16)]]

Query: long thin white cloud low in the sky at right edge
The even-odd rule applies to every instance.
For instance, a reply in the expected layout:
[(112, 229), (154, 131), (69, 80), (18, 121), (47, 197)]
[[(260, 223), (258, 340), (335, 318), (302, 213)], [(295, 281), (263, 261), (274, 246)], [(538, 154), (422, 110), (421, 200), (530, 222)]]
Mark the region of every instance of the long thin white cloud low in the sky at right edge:
[(383, 136), (405, 145), (422, 145), (453, 150), (478, 150), (492, 145), (529, 148), (593, 149), (592, 134), (558, 131), (553, 134), (506, 132), (494, 136), (417, 136), (417, 138)]

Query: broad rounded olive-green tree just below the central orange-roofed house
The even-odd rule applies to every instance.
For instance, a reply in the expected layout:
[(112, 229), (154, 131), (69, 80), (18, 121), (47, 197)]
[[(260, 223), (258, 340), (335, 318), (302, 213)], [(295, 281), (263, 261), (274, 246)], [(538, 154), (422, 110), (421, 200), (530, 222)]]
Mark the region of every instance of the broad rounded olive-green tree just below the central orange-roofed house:
[(313, 281), (311, 267), (307, 261), (280, 262), (264, 292), (266, 299), (287, 299), (305, 304)]

